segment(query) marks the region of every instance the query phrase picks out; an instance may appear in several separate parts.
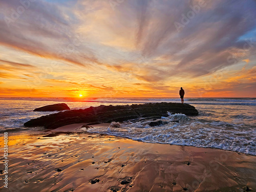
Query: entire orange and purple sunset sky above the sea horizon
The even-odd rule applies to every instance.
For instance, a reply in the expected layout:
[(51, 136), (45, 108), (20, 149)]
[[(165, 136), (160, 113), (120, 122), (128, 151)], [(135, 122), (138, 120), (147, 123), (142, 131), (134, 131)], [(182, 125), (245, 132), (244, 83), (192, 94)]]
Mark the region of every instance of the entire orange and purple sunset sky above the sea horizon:
[(256, 1), (1, 0), (0, 97), (256, 97)]

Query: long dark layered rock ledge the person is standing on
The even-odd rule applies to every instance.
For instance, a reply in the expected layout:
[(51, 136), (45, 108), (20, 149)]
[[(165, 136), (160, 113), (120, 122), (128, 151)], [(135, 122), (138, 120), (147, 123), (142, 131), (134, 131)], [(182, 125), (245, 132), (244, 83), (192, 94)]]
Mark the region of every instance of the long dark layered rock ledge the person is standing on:
[(100, 105), (87, 109), (70, 110), (51, 115), (42, 116), (24, 123), (27, 127), (44, 126), (47, 129), (55, 129), (73, 123), (109, 123), (112, 121), (126, 121), (141, 117), (161, 118), (170, 113), (182, 113), (185, 115), (198, 115), (194, 106), (181, 103), (145, 103), (132, 105)]

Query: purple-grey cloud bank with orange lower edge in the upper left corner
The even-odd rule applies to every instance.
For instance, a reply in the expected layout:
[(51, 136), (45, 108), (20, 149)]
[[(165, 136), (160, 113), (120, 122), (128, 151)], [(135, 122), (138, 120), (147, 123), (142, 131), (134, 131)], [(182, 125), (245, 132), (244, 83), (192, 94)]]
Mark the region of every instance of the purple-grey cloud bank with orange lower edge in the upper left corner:
[[(0, 44), (79, 66), (98, 62), (73, 30), (76, 20), (69, 9), (45, 1), (27, 5), (15, 0), (1, 2)], [(19, 14), (20, 7), (24, 11)]]

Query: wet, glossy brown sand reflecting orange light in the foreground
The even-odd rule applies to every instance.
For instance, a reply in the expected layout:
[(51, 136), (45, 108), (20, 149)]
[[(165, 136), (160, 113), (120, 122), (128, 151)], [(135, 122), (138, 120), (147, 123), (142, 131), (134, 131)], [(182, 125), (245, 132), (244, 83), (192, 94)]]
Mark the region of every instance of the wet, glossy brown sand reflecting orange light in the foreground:
[(9, 183), (3, 187), (2, 174), (1, 191), (256, 191), (251, 155), (69, 129), (9, 139)]

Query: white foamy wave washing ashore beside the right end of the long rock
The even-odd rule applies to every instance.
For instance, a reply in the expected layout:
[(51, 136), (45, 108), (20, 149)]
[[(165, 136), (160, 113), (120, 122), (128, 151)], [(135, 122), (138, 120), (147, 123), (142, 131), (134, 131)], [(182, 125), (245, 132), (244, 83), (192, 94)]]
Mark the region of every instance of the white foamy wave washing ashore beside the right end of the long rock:
[[(163, 123), (159, 126), (149, 125), (152, 121), (160, 120)], [(220, 129), (220, 127), (222, 128)], [(248, 128), (242, 123), (193, 119), (184, 114), (169, 114), (168, 117), (156, 120), (141, 118), (122, 123), (112, 122), (109, 127), (91, 128), (88, 132), (104, 133), (150, 143), (221, 148), (256, 155), (256, 142), (253, 140), (256, 135), (253, 127)]]

